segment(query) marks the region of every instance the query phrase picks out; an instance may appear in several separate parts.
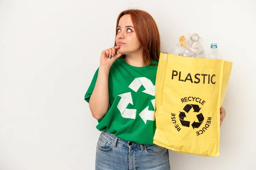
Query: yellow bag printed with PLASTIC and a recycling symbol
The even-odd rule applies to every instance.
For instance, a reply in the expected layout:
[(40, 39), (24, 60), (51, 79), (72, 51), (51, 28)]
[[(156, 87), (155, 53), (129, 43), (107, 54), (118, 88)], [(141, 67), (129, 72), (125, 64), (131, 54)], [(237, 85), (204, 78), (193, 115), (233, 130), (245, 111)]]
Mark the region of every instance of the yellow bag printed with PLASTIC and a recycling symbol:
[(180, 153), (219, 156), (220, 108), (232, 62), (160, 54), (154, 144)]

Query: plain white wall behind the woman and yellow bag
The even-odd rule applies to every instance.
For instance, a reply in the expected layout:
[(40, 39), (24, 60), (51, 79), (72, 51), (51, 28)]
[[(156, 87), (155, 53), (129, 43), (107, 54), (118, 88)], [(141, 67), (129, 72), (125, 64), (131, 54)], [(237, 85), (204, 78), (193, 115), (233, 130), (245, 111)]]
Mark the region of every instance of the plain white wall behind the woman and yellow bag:
[(221, 155), (170, 151), (171, 169), (255, 168), (255, 0), (0, 0), (0, 170), (94, 169), (100, 132), (84, 94), (128, 8), (154, 17), (162, 51), (198, 33), (233, 62)]

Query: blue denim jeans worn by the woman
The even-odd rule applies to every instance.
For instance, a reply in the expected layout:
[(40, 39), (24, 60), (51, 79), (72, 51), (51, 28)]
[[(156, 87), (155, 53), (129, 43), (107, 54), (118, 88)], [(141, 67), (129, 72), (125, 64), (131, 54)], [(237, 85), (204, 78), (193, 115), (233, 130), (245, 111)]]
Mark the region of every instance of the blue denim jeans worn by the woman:
[(169, 153), (164, 147), (125, 141), (104, 131), (97, 143), (96, 170), (170, 170)]

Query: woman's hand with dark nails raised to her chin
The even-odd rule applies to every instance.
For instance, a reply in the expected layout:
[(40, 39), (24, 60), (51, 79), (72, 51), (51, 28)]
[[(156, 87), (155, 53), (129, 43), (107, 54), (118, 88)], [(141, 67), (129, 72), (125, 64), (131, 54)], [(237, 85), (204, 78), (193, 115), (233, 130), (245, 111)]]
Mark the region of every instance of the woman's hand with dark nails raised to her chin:
[(111, 65), (114, 63), (114, 61), (120, 56), (122, 56), (121, 53), (116, 54), (116, 50), (118, 50), (119, 48), (119, 46), (115, 46), (102, 51), (99, 66), (111, 68)]

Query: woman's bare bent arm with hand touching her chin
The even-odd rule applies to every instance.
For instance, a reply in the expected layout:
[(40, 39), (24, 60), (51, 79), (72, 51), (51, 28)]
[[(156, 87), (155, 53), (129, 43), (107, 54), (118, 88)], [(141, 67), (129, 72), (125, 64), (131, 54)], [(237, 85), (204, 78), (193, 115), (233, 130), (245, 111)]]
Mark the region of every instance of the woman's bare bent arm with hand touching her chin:
[[(95, 119), (101, 119), (109, 109), (108, 75), (111, 65), (122, 54), (116, 54), (118, 46), (102, 51), (98, 77), (93, 93), (90, 96), (89, 107)], [(112, 56), (112, 54), (116, 54)], [(111, 57), (110, 57), (111, 56)]]

